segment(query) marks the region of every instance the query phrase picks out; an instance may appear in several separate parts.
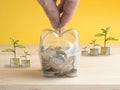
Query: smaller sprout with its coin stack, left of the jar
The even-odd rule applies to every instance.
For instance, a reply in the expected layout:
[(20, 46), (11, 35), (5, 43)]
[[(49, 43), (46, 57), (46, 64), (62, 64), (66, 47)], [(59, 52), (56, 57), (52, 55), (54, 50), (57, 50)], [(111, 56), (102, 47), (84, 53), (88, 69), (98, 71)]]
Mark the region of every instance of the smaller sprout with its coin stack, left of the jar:
[(28, 59), (28, 56), (30, 56), (31, 54), (29, 54), (28, 51), (24, 51), (24, 55), (20, 56), (22, 58), (24, 58), (24, 60), (21, 60), (21, 66), (22, 67), (30, 67), (30, 60)]

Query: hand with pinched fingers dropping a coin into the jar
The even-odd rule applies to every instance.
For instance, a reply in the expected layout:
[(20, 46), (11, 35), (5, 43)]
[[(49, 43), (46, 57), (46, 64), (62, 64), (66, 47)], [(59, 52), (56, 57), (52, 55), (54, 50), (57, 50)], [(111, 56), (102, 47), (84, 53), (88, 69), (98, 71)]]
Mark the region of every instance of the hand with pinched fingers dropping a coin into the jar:
[(57, 29), (64, 28), (71, 20), (79, 0), (61, 0), (58, 6), (56, 5), (57, 0), (38, 0), (38, 2), (46, 12), (53, 28)]

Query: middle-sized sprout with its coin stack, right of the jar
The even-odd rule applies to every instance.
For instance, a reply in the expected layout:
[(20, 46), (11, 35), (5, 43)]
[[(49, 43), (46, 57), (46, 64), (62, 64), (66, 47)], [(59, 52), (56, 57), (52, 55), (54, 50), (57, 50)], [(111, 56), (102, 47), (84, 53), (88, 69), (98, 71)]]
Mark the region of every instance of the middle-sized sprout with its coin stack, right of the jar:
[(99, 44), (96, 44), (96, 39), (92, 40), (89, 44), (92, 44), (92, 48), (90, 48), (90, 55), (91, 56), (98, 56), (99, 50), (96, 48), (96, 46), (99, 46)]

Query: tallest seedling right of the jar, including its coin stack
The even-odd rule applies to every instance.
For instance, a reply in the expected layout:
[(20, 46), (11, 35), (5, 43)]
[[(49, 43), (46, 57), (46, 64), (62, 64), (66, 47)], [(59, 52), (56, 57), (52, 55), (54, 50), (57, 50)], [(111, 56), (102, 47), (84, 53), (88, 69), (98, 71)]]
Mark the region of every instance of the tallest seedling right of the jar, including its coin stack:
[(107, 46), (107, 42), (118, 40), (114, 37), (108, 37), (109, 30), (110, 30), (110, 27), (107, 27), (105, 29), (101, 29), (102, 33), (95, 34), (95, 37), (104, 37), (104, 46), (101, 47), (101, 51), (100, 51), (101, 55), (110, 55), (110, 47)]

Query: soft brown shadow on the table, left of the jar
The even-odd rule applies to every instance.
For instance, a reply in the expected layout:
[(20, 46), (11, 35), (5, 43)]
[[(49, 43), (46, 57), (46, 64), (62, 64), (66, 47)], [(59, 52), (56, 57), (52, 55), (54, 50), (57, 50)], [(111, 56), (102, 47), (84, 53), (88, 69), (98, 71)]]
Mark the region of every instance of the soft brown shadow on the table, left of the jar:
[(15, 78), (41, 78), (42, 71), (40, 69), (32, 69), (32, 68), (14, 68), (9, 64), (4, 65), (5, 68), (8, 68), (5, 72), (8, 73), (10, 77)]

